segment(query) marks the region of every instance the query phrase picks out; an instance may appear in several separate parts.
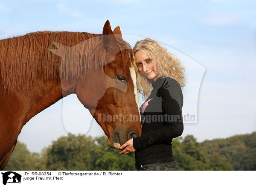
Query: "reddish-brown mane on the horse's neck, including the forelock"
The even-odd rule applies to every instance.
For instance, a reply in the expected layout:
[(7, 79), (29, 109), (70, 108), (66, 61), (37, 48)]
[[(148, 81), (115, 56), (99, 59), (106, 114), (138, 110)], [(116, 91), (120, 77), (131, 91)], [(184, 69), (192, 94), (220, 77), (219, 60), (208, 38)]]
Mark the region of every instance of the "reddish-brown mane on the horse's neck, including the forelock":
[[(0, 88), (7, 92), (28, 90), (38, 78), (44, 82), (60, 81), (102, 69), (107, 51), (100, 46), (101, 39), (101, 34), (87, 32), (38, 31), (0, 40)], [(116, 39), (122, 61), (131, 61), (131, 46), (119, 37)], [(79, 44), (84, 46), (76, 47)]]

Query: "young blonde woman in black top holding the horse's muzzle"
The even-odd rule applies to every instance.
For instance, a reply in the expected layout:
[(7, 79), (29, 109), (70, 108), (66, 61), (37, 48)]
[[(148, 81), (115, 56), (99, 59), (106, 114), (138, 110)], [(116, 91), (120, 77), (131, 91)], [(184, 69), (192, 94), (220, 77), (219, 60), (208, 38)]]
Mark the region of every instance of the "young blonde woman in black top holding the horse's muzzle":
[(184, 68), (166, 48), (149, 38), (133, 49), (137, 88), (145, 102), (140, 107), (142, 135), (128, 140), (119, 154), (135, 151), (136, 170), (180, 170), (172, 154), (172, 139), (183, 132), (181, 108)]

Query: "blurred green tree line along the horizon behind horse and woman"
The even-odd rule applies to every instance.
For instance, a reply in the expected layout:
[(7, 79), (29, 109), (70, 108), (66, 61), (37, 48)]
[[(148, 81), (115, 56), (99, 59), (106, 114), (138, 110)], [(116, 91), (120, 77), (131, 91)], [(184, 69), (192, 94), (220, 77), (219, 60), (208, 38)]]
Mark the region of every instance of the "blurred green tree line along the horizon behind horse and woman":
[[(107, 137), (59, 137), (41, 153), (17, 142), (4, 170), (135, 170), (134, 153), (120, 155), (106, 145)], [(193, 135), (173, 139), (181, 170), (256, 170), (256, 132), (197, 142)]]

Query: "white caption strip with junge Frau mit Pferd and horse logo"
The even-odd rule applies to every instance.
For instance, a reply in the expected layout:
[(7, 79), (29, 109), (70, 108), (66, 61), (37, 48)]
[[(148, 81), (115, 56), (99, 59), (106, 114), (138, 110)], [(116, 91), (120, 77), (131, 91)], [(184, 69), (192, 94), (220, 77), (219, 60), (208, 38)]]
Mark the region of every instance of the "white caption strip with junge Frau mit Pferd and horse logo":
[(0, 171), (0, 185), (254, 185), (256, 171)]

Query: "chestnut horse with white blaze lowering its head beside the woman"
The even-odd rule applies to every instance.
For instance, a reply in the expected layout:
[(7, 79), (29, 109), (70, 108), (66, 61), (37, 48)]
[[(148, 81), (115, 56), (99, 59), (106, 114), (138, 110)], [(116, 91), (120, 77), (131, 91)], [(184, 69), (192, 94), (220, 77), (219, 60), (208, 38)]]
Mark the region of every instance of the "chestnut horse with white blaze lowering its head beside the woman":
[(0, 40), (0, 170), (33, 116), (75, 93), (119, 148), (141, 135), (131, 46), (109, 20), (102, 34), (38, 31)]

